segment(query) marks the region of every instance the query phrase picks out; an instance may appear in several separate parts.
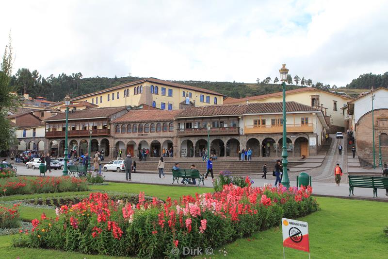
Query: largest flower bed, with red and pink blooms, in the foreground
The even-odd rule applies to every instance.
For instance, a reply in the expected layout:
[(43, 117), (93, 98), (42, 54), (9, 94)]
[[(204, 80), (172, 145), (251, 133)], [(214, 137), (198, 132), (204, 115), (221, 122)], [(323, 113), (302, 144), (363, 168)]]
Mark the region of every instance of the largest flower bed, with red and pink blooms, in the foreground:
[[(221, 192), (145, 202), (117, 203), (105, 193), (91, 193), (56, 219), (42, 215), (14, 246), (63, 249), (85, 254), (179, 258), (183, 247), (217, 248), (237, 238), (318, 209), (312, 189), (252, 188), (225, 185)], [(204, 250), (203, 250), (204, 251)]]

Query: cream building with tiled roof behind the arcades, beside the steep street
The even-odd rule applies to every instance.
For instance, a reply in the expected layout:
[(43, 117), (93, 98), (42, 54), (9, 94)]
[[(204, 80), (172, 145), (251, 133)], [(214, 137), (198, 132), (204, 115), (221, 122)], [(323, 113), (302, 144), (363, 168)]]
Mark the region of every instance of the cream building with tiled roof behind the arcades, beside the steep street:
[[(274, 103), (282, 102), (282, 92), (245, 97), (241, 99), (226, 98), (224, 104), (246, 104), (246, 103)], [(344, 113), (341, 109), (352, 101), (352, 98), (336, 93), (323, 91), (313, 87), (304, 87), (286, 91), (287, 102), (297, 102), (322, 110), (330, 132), (343, 131)]]

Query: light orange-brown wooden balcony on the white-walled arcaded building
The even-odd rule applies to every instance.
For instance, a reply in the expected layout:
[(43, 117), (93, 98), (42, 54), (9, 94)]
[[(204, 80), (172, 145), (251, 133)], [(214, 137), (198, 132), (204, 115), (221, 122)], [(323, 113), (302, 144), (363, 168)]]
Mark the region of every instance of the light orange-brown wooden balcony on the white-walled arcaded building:
[[(245, 126), (244, 134), (282, 133), (283, 125)], [(287, 124), (288, 133), (313, 132), (312, 123)]]

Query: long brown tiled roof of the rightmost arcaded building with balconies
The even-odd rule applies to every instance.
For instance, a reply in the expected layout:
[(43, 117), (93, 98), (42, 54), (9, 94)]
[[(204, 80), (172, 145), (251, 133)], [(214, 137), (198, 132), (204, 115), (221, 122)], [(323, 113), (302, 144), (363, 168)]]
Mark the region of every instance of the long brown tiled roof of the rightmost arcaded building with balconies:
[[(255, 113), (280, 113), (283, 111), (283, 103), (253, 103), (253, 104), (227, 104), (193, 107), (182, 110), (176, 118), (206, 117), (206, 116), (239, 116)], [(317, 112), (320, 111), (311, 106), (297, 102), (286, 102), (287, 112)]]

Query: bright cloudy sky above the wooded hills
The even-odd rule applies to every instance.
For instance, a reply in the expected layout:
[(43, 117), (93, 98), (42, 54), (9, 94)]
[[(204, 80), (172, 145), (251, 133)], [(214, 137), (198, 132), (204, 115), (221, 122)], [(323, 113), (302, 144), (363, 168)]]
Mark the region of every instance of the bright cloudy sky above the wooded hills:
[(18, 68), (254, 83), (291, 75), (344, 86), (388, 70), (388, 1), (12, 0), (1, 3)]

